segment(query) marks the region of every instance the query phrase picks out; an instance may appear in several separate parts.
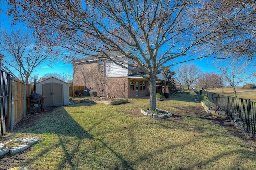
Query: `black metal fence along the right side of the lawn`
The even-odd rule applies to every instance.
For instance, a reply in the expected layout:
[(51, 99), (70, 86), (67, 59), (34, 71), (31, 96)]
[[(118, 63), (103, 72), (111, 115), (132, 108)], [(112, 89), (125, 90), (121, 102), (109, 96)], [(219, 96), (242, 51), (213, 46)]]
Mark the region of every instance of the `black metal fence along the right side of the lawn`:
[(226, 111), (228, 117), (256, 137), (256, 102), (200, 90), (208, 100)]

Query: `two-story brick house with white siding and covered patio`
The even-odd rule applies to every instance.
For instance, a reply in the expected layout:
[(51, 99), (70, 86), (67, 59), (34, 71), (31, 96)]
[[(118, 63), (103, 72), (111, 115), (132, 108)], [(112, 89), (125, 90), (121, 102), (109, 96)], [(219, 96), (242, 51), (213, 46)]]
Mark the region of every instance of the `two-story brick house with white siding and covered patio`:
[[(159, 72), (157, 81), (167, 81), (163, 72)], [(92, 56), (73, 63), (73, 85), (86, 86), (85, 90), (97, 91), (98, 96), (105, 97), (107, 94), (116, 98), (149, 95), (149, 82), (145, 78), (112, 61)]]

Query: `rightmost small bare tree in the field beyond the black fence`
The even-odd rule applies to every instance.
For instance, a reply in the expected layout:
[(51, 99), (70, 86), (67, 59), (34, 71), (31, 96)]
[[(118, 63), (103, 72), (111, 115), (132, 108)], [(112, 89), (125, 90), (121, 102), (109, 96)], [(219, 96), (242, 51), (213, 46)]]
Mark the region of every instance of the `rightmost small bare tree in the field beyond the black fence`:
[(219, 61), (214, 64), (223, 74), (223, 78), (233, 88), (234, 96), (236, 95), (236, 86), (241, 84), (252, 76), (248, 69), (248, 63), (246, 61), (239, 62), (237, 60)]

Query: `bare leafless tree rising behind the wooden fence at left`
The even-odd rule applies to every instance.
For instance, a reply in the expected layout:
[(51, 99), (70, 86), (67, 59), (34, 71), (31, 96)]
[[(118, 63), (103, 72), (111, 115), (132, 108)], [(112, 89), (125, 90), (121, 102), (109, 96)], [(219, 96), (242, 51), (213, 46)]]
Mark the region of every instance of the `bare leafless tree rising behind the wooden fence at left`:
[[(3, 58), (4, 68), (18, 71), (16, 77), (28, 82), (34, 68), (50, 59), (49, 52), (41, 45), (36, 45), (29, 32), (24, 30), (3, 30), (0, 39), (1, 49), (7, 57)], [(13, 72), (14, 74), (14, 72)]]

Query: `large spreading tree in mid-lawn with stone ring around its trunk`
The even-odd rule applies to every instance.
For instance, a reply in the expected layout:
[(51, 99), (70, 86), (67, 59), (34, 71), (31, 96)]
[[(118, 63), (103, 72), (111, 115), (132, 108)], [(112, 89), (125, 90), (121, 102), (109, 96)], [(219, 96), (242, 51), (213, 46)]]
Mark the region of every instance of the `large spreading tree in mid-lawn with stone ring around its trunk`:
[[(69, 49), (72, 55), (113, 61), (142, 76), (150, 84), (150, 109), (156, 109), (156, 79), (164, 69), (161, 66), (218, 56), (215, 54), (219, 49), (212, 51), (212, 47), (219, 47), (217, 42), (225, 39), (232, 41), (230, 34), (237, 27), (232, 25), (233, 18), (241, 16), (249, 3), (237, 2), (237, 6), (231, 4), (229, 10), (223, 11), (226, 3), (227, 0), (10, 0), (9, 14), (14, 20), (28, 23), (41, 42)], [(106, 51), (118, 51), (122, 56), (113, 58)], [(123, 58), (136, 61), (148, 76), (132, 70)]]

